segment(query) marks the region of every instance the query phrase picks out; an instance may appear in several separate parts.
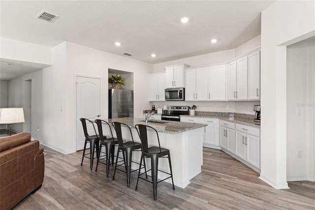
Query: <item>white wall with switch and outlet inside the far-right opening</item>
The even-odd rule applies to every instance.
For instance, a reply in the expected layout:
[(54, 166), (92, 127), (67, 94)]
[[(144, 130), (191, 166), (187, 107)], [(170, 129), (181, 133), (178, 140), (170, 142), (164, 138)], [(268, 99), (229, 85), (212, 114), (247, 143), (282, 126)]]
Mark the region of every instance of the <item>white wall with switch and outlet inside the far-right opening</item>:
[[(314, 180), (315, 39), (287, 47), (287, 180)], [(297, 110), (301, 116), (297, 116)], [(302, 157), (298, 158), (298, 150)]]

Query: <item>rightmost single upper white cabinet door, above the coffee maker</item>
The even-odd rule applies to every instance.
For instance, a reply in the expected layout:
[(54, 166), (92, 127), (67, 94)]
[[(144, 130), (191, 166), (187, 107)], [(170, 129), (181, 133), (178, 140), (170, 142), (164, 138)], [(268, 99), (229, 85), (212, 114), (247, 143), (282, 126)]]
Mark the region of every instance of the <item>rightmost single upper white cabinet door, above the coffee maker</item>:
[(260, 51), (248, 56), (248, 97), (249, 100), (260, 99)]

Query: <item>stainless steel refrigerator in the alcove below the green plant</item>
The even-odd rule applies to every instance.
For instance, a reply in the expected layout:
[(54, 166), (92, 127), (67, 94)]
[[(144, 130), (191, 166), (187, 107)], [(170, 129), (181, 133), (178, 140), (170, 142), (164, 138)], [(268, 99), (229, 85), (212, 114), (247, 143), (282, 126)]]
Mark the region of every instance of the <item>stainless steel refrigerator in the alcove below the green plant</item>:
[(133, 118), (133, 90), (108, 90), (108, 118)]

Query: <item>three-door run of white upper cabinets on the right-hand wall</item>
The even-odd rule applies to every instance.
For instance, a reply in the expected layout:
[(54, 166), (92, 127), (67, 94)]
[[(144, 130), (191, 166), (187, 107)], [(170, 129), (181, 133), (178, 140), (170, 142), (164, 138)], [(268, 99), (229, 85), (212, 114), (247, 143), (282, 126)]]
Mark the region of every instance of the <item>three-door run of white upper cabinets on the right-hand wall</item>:
[(227, 99), (260, 99), (260, 51), (227, 64)]

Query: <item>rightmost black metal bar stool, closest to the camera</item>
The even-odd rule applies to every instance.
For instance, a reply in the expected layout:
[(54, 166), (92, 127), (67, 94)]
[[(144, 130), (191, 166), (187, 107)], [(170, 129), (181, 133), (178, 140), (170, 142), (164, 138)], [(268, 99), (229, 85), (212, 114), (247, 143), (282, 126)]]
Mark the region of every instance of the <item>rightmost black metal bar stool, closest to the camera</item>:
[[(151, 158), (151, 176), (152, 176), (152, 181), (149, 181), (151, 183), (153, 183), (153, 196), (154, 196), (154, 200), (157, 200), (157, 191), (158, 191), (158, 183), (164, 180), (167, 180), (169, 178), (172, 179), (172, 184), (173, 184), (173, 190), (175, 190), (175, 186), (174, 186), (174, 181), (173, 181), (173, 173), (172, 173), (172, 164), (171, 164), (171, 157), (170, 157), (170, 152), (167, 149), (161, 148), (160, 144), (159, 144), (159, 138), (158, 138), (158, 147), (148, 147), (148, 135), (147, 135), (147, 128), (149, 128), (152, 131), (155, 131), (158, 137), (158, 131), (149, 126), (149, 125), (143, 125), (143, 124), (137, 124), (135, 125), (135, 128), (138, 131), (140, 140), (141, 140), (141, 144), (142, 144), (142, 155), (141, 155), (141, 160), (140, 160), (140, 167), (141, 167), (141, 162), (142, 160), (145, 161), (145, 158)], [(164, 157), (165, 155), (167, 155), (167, 157)], [(168, 158), (168, 163), (169, 163), (169, 169), (171, 173), (167, 173), (161, 170), (158, 170), (158, 158), (160, 157), (164, 157), (164, 158)], [(149, 170), (149, 171), (150, 171)], [(158, 171), (163, 172), (165, 174), (170, 175), (169, 177), (165, 178), (164, 180), (160, 180), (158, 181)], [(147, 171), (146, 171), (147, 172)], [(139, 178), (142, 180), (142, 177), (140, 177), (141, 175), (143, 175), (144, 173), (140, 174), (140, 170), (139, 170), (139, 174), (138, 174), (138, 180), (137, 180), (137, 185), (136, 185), (136, 189), (138, 189), (138, 181)]]

